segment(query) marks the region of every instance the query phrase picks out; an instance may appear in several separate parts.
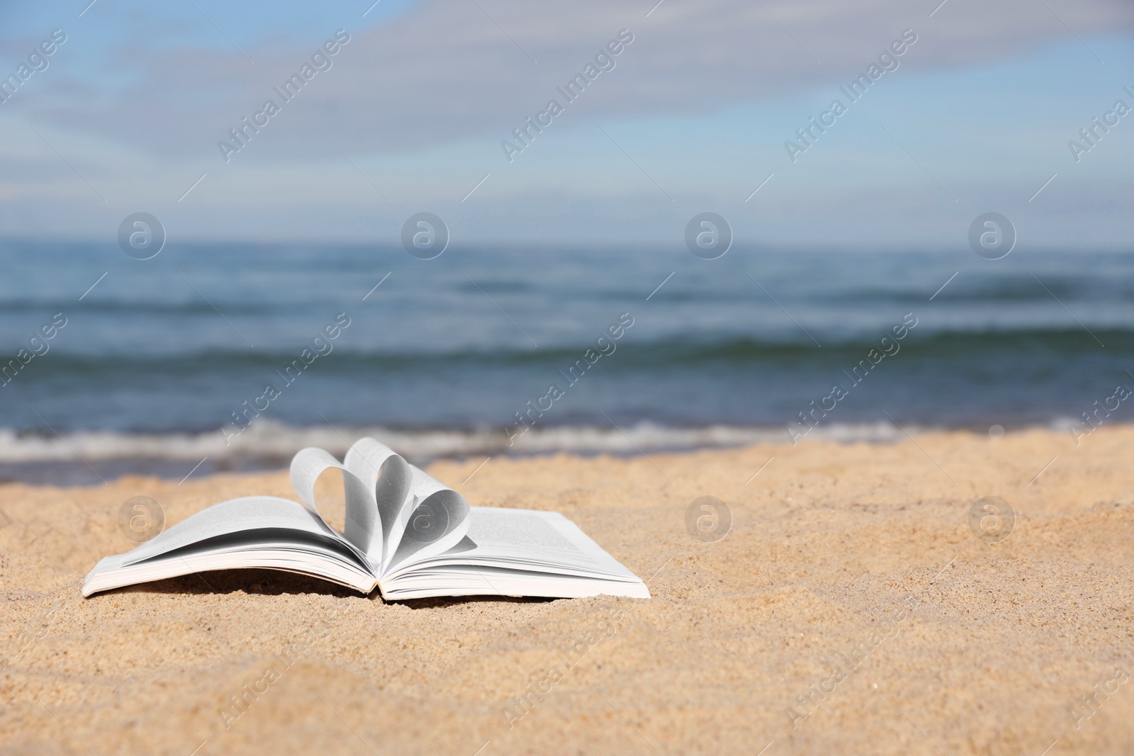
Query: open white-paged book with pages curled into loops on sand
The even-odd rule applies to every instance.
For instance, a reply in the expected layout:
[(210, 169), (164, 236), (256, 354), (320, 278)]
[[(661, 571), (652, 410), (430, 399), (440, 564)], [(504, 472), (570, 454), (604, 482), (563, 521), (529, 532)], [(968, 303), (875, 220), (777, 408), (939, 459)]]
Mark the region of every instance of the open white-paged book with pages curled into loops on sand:
[[(315, 506), (315, 479), (339, 468), (340, 534)], [(245, 496), (214, 504), (137, 549), (107, 557), (83, 595), (206, 570), (266, 568), (323, 578), (383, 598), (608, 594), (649, 598), (633, 572), (556, 512), (469, 507), (388, 447), (362, 439), (340, 464), (322, 449), (291, 460), (296, 503)]]

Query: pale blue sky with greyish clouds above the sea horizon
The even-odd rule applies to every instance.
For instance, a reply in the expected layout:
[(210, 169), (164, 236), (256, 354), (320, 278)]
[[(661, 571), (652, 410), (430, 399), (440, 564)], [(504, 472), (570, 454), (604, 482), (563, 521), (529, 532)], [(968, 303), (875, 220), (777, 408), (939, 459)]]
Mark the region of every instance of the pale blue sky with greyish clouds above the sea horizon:
[(1068, 146), (1134, 107), (1126, 2), (88, 3), (0, 6), (0, 76), (42, 68), (0, 103), (0, 236), (113, 240), (135, 212), (202, 241), (393, 245), (417, 212), (499, 246), (645, 247), (705, 211), (769, 248), (947, 248), (989, 211), (1022, 247), (1134, 231), (1134, 114)]

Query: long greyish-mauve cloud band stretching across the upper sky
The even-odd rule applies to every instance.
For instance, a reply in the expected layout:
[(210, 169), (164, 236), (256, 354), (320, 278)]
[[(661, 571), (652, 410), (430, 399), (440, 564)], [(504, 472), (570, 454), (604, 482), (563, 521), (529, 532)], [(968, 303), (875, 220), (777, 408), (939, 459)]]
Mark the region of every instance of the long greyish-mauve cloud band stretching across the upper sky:
[[(631, 29), (635, 42), (575, 107), (578, 118), (711, 112), (835, 86), (904, 28), (920, 36), (916, 53), (903, 61), (914, 68), (997, 59), (1041, 40), (1134, 28), (1134, 8), (1115, 0), (1052, 1), (1055, 12), (1031, 0), (950, 0), (932, 18), (934, 2), (897, 0), (667, 2), (646, 18), (649, 5), (496, 0), (485, 5), (490, 18), (472, 2), (426, 2), (383, 26), (348, 28), (353, 41), (333, 70), (289, 107), (289, 128), (248, 152), (264, 159), (324, 156), (330, 147), (316, 125), (333, 131), (353, 155), (468, 137), (494, 144), (621, 28)], [(1064, 20), (1073, 24), (1070, 31)], [(255, 66), (232, 50), (164, 50), (152, 41), (130, 56), (90, 61), (87, 68), (104, 76), (84, 75), (82, 86), (59, 66), (51, 80), (37, 83), (46, 90), (40, 104), (29, 96), (20, 107), (57, 128), (87, 130), (159, 156), (208, 158), (228, 129), (259, 110), (272, 87), (333, 32), (312, 29), (306, 45), (247, 45)]]

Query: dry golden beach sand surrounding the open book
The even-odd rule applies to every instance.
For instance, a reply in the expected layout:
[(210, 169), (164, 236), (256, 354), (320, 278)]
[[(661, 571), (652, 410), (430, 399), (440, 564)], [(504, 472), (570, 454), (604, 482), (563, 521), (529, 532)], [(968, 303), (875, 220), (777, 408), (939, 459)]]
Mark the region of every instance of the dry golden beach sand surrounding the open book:
[[(473, 506), (562, 512), (652, 600), (388, 604), (270, 571), (84, 600), (132, 546), (125, 500), (171, 524), (294, 498), (287, 473), (0, 486), (0, 751), (1131, 754), (1134, 428), (1081, 442), (430, 468)], [(704, 495), (730, 508), (723, 540), (686, 530)], [(1017, 513), (996, 543), (970, 527), (989, 495)]]

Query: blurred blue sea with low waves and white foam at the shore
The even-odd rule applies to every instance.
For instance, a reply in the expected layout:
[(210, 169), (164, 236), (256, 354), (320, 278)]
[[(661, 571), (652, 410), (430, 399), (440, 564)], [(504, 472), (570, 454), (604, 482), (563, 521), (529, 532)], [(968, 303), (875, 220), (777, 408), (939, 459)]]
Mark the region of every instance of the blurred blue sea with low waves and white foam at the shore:
[(1134, 387), (1117, 252), (170, 243), (135, 260), (8, 239), (0, 264), (2, 481), (272, 469), (362, 435), (415, 462), (1074, 435), (1134, 404), (1112, 398)]

